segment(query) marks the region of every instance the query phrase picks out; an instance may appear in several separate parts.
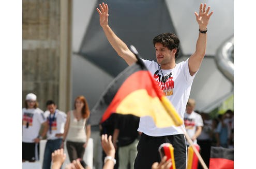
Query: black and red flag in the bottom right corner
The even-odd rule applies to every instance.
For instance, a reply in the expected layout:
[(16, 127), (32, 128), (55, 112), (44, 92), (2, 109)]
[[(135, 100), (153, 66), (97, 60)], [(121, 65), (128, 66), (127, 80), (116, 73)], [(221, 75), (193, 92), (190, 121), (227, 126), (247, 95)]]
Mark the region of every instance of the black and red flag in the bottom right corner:
[(234, 168), (234, 149), (223, 147), (210, 148), (209, 169)]

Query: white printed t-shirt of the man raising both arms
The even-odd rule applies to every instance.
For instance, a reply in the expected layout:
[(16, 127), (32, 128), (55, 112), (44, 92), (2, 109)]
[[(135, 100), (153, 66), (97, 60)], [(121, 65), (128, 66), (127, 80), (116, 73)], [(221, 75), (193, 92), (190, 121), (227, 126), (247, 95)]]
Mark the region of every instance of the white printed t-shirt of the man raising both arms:
[[(188, 59), (186, 61), (176, 64), (174, 69), (161, 70), (160, 66), (155, 61), (142, 59), (149, 72), (153, 75), (154, 79), (158, 82), (159, 88), (162, 89), (175, 107), (180, 118), (184, 118), (184, 112), (190, 95), (193, 76), (189, 73)], [(163, 74), (163, 75), (162, 75)], [(152, 118), (149, 116), (140, 118), (140, 125), (138, 131), (141, 131), (148, 136), (169, 136), (174, 134), (183, 134), (182, 126), (172, 126), (165, 128), (157, 128)]]

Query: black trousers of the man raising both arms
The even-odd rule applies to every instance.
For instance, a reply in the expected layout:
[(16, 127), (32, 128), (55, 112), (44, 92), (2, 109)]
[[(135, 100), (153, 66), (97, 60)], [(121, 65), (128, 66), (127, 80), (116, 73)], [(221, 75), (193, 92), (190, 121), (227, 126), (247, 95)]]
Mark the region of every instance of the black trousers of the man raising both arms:
[(149, 169), (154, 162), (160, 162), (158, 151), (162, 143), (170, 143), (174, 148), (174, 160), (177, 169), (186, 169), (187, 147), (184, 134), (152, 137), (142, 133), (137, 146), (138, 154), (134, 169)]

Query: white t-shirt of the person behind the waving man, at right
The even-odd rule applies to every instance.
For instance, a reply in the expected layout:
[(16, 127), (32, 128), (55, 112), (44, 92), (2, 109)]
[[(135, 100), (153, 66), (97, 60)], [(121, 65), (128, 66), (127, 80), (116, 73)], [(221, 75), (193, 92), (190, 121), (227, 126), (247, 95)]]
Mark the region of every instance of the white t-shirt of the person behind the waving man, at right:
[[(187, 112), (184, 114), (184, 124), (186, 127), (189, 127), (186, 131), (190, 138), (194, 136), (198, 126), (204, 126), (202, 116), (194, 111), (192, 111), (191, 114)], [(197, 144), (197, 139), (195, 139), (193, 143)], [(189, 143), (187, 142), (187, 144)]]

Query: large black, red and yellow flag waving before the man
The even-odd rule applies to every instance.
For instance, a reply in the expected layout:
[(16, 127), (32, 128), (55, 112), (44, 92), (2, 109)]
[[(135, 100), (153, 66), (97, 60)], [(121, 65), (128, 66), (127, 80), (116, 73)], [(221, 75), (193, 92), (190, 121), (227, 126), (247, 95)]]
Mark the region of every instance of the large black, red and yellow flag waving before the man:
[(112, 113), (150, 116), (157, 127), (180, 126), (182, 119), (145, 67), (138, 61), (121, 72), (103, 93), (93, 112), (102, 112), (100, 123)]

